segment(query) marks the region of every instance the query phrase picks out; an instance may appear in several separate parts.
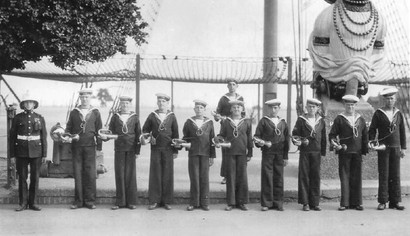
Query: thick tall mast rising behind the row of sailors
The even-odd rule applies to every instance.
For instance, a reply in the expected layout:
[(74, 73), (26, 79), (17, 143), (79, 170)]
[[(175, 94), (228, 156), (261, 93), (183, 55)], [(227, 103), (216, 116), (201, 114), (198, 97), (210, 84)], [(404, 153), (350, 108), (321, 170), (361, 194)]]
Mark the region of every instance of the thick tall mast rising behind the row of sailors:
[[(277, 97), (277, 83), (269, 82), (274, 77), (278, 58), (278, 1), (264, 0), (264, 23), (263, 23), (263, 99), (267, 101)], [(268, 115), (269, 111), (263, 106), (262, 116)]]

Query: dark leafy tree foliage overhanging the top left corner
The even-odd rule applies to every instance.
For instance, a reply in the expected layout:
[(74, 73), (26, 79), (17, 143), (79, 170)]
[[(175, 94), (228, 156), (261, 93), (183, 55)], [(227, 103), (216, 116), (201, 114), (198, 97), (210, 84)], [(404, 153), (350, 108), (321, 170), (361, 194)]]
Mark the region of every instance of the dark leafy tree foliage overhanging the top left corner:
[(146, 42), (136, 0), (2, 0), (0, 72), (49, 56), (62, 69), (126, 52)]

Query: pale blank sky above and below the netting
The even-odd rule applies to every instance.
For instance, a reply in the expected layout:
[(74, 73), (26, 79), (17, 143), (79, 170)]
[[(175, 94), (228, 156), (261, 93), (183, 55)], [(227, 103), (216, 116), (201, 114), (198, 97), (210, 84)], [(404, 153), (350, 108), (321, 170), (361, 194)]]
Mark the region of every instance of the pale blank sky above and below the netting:
[[(148, 1), (148, 0), (146, 0)], [(403, 2), (405, 0), (395, 0)], [(180, 55), (203, 57), (262, 57), (263, 56), (263, 1), (262, 0), (163, 0), (158, 10), (153, 31), (145, 46), (146, 54)], [(278, 55), (294, 56), (294, 30), (292, 3), (297, 7), (296, 0), (278, 1)], [(330, 5), (322, 0), (303, 0), (301, 15), (301, 45), (302, 57), (309, 57), (306, 38), (313, 29), (316, 16)], [(382, 11), (382, 9), (380, 9)], [(401, 14), (405, 15), (407, 7)], [(144, 12), (143, 12), (144, 13)], [(144, 16), (144, 14), (143, 14)], [(297, 18), (295, 18), (297, 22)], [(407, 22), (404, 20), (404, 22)], [(407, 24), (407, 23), (406, 23)], [(407, 24), (408, 26), (408, 24)], [(297, 29), (296, 29), (297, 30)], [(408, 33), (408, 29), (407, 29)], [(135, 50), (132, 40), (128, 42), (128, 51)], [(68, 105), (73, 93), (80, 84), (4, 76), (19, 97), (27, 91), (37, 96), (41, 105)], [(97, 82), (95, 90), (108, 88), (115, 95), (118, 82)], [(171, 94), (169, 81), (141, 81), (140, 105), (155, 106), (155, 93)], [(373, 88), (373, 89), (372, 89)], [(376, 96), (380, 88), (371, 87), (370, 96)], [(134, 89), (135, 92), (135, 89)], [(133, 93), (134, 93), (133, 92)], [(192, 100), (198, 98), (208, 101), (216, 107), (220, 96), (227, 92), (224, 84), (174, 83), (174, 105), (191, 106)], [(0, 93), (12, 95), (2, 82)], [(247, 106), (251, 107), (258, 101), (258, 85), (241, 84), (238, 93), (245, 97)], [(305, 88), (306, 98), (312, 96), (309, 87)], [(278, 85), (278, 97), (286, 99), (285, 85)], [(293, 89), (293, 98), (296, 92)], [(294, 102), (292, 102), (294, 104)]]

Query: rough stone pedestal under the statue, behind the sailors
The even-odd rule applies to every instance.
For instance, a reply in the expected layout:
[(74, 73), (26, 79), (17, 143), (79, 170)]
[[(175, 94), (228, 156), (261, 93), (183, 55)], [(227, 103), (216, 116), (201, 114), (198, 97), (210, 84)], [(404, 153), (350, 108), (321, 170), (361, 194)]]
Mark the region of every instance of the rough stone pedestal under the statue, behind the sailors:
[[(336, 116), (344, 112), (343, 102), (337, 102), (335, 100), (324, 101), (326, 105), (326, 139), (329, 140), (329, 132), (332, 127), (333, 121)], [(375, 112), (372, 106), (363, 100), (357, 103), (356, 112), (359, 113), (364, 120), (366, 120), (367, 128), (372, 121), (373, 113)], [(321, 161), (321, 179), (339, 179), (339, 160), (338, 155), (335, 152), (329, 151), (330, 143), (327, 141), (326, 157), (322, 157)], [(374, 180), (378, 179), (377, 170), (377, 152), (368, 153), (363, 159), (362, 163), (362, 179)]]

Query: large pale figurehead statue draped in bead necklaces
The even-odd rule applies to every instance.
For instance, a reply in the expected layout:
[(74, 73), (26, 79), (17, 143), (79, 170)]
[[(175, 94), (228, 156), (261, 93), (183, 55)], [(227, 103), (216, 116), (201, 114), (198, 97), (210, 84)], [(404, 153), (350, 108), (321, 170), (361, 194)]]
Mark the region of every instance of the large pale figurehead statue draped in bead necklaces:
[(322, 101), (360, 97), (384, 63), (385, 21), (371, 1), (325, 1), (332, 5), (316, 18), (309, 39), (311, 87)]

